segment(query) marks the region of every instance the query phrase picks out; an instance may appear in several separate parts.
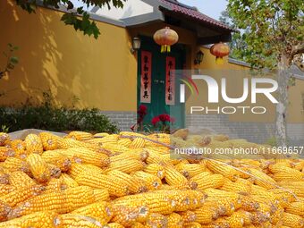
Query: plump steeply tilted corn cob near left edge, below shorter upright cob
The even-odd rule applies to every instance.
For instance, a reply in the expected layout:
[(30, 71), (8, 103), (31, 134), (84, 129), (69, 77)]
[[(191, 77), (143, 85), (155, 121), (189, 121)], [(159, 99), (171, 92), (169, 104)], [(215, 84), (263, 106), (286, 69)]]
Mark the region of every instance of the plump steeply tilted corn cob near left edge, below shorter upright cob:
[(26, 161), (30, 165), (30, 172), (38, 182), (47, 182), (51, 173), (46, 162), (38, 154), (30, 154)]

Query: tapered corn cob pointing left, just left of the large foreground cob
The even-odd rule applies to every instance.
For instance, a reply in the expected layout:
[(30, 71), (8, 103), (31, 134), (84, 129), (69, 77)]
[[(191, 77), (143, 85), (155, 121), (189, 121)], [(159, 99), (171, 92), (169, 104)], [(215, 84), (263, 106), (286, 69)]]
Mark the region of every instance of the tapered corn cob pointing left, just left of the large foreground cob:
[(113, 216), (109, 203), (102, 201), (94, 204), (90, 204), (85, 207), (80, 207), (72, 211), (71, 214), (85, 215), (85, 216), (93, 217), (95, 219), (102, 219), (102, 221), (106, 223), (109, 222)]

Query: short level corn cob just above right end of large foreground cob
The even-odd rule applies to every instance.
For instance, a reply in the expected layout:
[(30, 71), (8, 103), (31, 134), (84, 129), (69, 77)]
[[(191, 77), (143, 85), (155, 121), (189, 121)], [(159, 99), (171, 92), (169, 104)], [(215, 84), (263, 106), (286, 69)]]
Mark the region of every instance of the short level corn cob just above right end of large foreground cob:
[[(205, 173), (204, 173), (205, 174)], [(211, 174), (203, 178), (198, 178), (201, 175), (198, 174), (190, 179), (190, 186), (193, 189), (205, 190), (208, 188), (220, 188), (224, 184), (224, 176), (221, 174)]]

